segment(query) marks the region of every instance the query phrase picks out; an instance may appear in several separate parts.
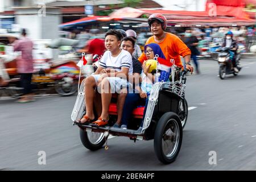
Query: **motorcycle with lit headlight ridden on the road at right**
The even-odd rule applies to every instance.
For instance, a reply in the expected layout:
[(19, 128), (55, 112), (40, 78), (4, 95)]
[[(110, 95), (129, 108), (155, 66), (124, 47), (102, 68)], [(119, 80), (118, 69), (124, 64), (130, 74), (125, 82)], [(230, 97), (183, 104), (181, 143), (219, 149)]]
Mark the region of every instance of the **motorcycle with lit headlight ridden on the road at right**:
[(237, 76), (238, 72), (242, 69), (240, 65), (240, 61), (236, 59), (237, 61), (237, 69), (238, 72), (235, 72), (232, 65), (232, 59), (234, 56), (234, 53), (231, 51), (232, 48), (228, 47), (221, 47), (217, 49), (216, 51), (218, 53), (218, 64), (220, 65), (219, 68), (219, 75), (221, 80), (223, 80), (226, 75), (233, 74), (234, 76)]

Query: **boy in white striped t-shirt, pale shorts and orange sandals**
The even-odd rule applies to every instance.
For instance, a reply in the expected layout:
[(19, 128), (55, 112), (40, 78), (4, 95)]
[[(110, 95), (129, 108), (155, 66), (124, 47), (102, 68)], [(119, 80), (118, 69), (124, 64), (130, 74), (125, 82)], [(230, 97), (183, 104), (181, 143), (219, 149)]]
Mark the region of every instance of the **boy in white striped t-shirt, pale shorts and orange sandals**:
[[(128, 75), (133, 74), (133, 60), (129, 52), (120, 49), (122, 34), (116, 30), (110, 30), (105, 35), (105, 47), (107, 51), (102, 56), (100, 65), (94, 75), (85, 80), (85, 107), (86, 114), (78, 122), (80, 124), (93, 121), (94, 89), (98, 85), (101, 92), (102, 111), (97, 121), (97, 126), (108, 124), (109, 105), (112, 93), (122, 93), (131, 84), (127, 81)], [(100, 105), (100, 103), (97, 103)], [(119, 108), (119, 110), (122, 108)]]

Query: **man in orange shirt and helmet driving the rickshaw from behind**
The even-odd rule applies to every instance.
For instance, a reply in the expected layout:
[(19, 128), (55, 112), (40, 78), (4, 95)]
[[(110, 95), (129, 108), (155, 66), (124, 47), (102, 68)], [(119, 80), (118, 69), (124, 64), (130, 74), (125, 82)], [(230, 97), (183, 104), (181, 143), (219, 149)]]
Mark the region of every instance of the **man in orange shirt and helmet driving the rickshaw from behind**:
[[(167, 19), (160, 13), (152, 14), (148, 18), (148, 26), (153, 36), (147, 39), (146, 45), (156, 43), (162, 49), (167, 60), (174, 59), (175, 65), (183, 67), (180, 56), (184, 57), (186, 68), (193, 73), (193, 67), (190, 64), (190, 49), (176, 35), (165, 32), (167, 28)], [(138, 60), (143, 63), (146, 55), (143, 52)]]

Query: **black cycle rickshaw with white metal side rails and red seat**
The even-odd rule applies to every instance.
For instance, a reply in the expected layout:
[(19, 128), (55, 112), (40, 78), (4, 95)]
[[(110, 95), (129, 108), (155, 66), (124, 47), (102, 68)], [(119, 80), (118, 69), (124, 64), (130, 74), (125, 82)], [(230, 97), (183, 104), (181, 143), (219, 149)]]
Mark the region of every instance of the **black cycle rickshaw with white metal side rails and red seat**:
[[(112, 127), (117, 119), (117, 105), (112, 102), (109, 107), (109, 126), (96, 127), (93, 125), (77, 125), (80, 128), (82, 144), (91, 151), (96, 151), (108, 142), (109, 135), (129, 137), (131, 140), (154, 139), (154, 150), (160, 162), (169, 164), (174, 162), (179, 154), (183, 127), (187, 121), (188, 106), (185, 100), (185, 72), (172, 65), (170, 82), (156, 82), (151, 90), (146, 115), (144, 116), (141, 132), (139, 119), (143, 118), (144, 106), (137, 106), (133, 110), (133, 125), (123, 130)], [(85, 88), (83, 80), (73, 108), (71, 119), (74, 121), (85, 114)], [(105, 146), (108, 150), (108, 145)]]

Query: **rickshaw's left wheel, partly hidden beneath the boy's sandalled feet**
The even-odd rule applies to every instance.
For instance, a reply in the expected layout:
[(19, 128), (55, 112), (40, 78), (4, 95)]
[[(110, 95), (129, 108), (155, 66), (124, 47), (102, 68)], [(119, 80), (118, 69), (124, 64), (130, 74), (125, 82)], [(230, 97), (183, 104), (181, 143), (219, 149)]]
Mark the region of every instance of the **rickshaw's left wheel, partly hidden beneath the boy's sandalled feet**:
[(82, 144), (91, 151), (102, 148), (106, 139), (103, 133), (89, 132), (80, 129), (80, 139)]

